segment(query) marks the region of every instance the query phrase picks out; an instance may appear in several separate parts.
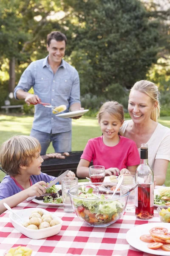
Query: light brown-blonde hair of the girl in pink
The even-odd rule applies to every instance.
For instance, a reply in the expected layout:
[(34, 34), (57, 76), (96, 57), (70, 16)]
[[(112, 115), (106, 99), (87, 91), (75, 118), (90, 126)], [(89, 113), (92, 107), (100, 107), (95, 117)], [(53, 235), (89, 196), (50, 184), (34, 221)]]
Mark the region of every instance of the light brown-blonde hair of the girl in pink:
[(119, 122), (124, 122), (124, 110), (120, 103), (116, 101), (105, 102), (97, 114), (98, 122), (100, 122), (102, 114), (105, 112), (108, 112), (111, 116), (114, 116), (114, 118)]

